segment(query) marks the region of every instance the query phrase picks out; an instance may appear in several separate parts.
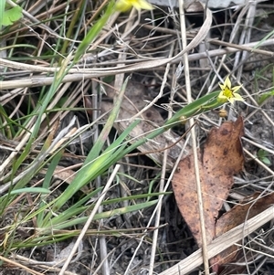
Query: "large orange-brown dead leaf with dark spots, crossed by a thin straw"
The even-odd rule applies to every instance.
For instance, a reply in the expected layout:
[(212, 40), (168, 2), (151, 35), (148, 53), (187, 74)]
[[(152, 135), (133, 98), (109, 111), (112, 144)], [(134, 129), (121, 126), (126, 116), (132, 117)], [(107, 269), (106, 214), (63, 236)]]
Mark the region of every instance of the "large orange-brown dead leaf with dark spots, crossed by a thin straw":
[[(211, 130), (204, 150), (198, 152), (207, 244), (215, 238), (216, 218), (233, 185), (233, 175), (243, 168), (244, 155), (240, 141), (243, 132), (241, 117), (236, 122), (224, 122), (219, 128)], [(185, 157), (178, 165), (173, 188), (180, 212), (201, 247), (193, 154)]]

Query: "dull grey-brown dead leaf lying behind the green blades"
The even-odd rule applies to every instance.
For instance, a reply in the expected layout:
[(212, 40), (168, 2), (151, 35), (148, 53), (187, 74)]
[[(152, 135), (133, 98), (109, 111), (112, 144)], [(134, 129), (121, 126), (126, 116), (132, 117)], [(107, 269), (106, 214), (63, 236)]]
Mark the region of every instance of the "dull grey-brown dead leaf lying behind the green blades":
[[(110, 99), (114, 98), (115, 91), (111, 89), (110, 86), (106, 87), (106, 92)], [(128, 83), (125, 95), (125, 99), (121, 102), (118, 120), (114, 124), (114, 127), (118, 132), (123, 132), (128, 127), (130, 118), (141, 111), (147, 105), (146, 100), (149, 100), (144, 86), (136, 83), (133, 84), (132, 82)], [(103, 100), (101, 102), (101, 111), (111, 111), (112, 106), (113, 103), (110, 100)], [(140, 122), (130, 133), (130, 139), (132, 142), (142, 139), (145, 134), (153, 132), (154, 129), (161, 127), (164, 123), (160, 111), (154, 106), (147, 111), (143, 111), (141, 118), (142, 122)], [(166, 165), (167, 169), (170, 170), (174, 167), (176, 158), (184, 148), (184, 140), (180, 140), (180, 136), (175, 132), (163, 132), (163, 134), (156, 136), (153, 140), (143, 143), (138, 147), (138, 150), (152, 158), (156, 164), (163, 164), (163, 144), (166, 144), (165, 147), (168, 147)], [(187, 154), (187, 150), (189, 149), (189, 146), (184, 148), (184, 155)]]

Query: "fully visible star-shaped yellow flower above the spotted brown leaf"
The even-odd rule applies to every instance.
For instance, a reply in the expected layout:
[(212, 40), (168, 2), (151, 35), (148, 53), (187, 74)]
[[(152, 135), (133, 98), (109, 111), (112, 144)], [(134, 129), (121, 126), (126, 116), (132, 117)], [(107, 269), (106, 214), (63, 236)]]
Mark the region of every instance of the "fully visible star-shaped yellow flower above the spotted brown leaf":
[(221, 92), (219, 93), (217, 100), (219, 102), (227, 102), (229, 101), (231, 104), (234, 101), (244, 101), (244, 99), (237, 93), (237, 90), (240, 90), (242, 86), (235, 86), (231, 88), (231, 81), (227, 76), (224, 85), (219, 84), (221, 88)]

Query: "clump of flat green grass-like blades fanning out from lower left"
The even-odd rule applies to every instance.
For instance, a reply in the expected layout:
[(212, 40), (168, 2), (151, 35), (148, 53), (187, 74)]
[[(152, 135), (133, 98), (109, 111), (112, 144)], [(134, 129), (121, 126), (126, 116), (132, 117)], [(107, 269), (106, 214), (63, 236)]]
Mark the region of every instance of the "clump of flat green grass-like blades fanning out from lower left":
[[(65, 231), (64, 229), (69, 229), (85, 223), (89, 217), (90, 211), (96, 206), (96, 201), (102, 192), (102, 187), (95, 187), (90, 193), (83, 194), (77, 202), (69, 205), (68, 202), (71, 201), (73, 196), (79, 193), (81, 188), (89, 185), (90, 182), (93, 182), (98, 177), (106, 176), (107, 173), (112, 170), (113, 164), (116, 164), (125, 155), (142, 145), (142, 143), (146, 143), (147, 140), (153, 139), (157, 135), (168, 131), (175, 125), (184, 123), (190, 117), (215, 109), (224, 103), (217, 100), (219, 91), (207, 94), (188, 104), (180, 111), (177, 111), (170, 120), (164, 123), (163, 127), (157, 128), (155, 131), (143, 136), (142, 139), (134, 142), (130, 141), (128, 137), (130, 132), (132, 132), (134, 127), (140, 122), (140, 120), (135, 120), (117, 139), (104, 149), (113, 123), (117, 119), (120, 111), (121, 100), (128, 81), (128, 79), (126, 79), (113, 104), (109, 119), (104, 124), (99, 138), (92, 145), (85, 162), (82, 164), (68, 187), (61, 191), (58, 196), (52, 198), (50, 184), (69, 140), (67, 143), (62, 143), (61, 146), (56, 148), (56, 140), (53, 139), (52, 134), (48, 134), (43, 147), (35, 156), (32, 155), (33, 149), (35, 148), (34, 144), (40, 140), (39, 131), (41, 123), (45, 121), (45, 117), (48, 117), (50, 103), (55, 99), (62, 80), (68, 75), (69, 69), (77, 64), (79, 59), (85, 54), (90, 43), (100, 34), (101, 29), (105, 26), (108, 18), (113, 13), (113, 5), (114, 1), (111, 1), (104, 9), (103, 16), (90, 27), (90, 31), (83, 38), (75, 52), (73, 52), (71, 48), (68, 48), (68, 43), (62, 44), (61, 41), (58, 40), (56, 47), (62, 49), (63, 56), (57, 55), (51, 61), (52, 67), (56, 64), (60, 64), (60, 67), (54, 74), (54, 81), (48, 89), (47, 86), (43, 86), (42, 89), (39, 90), (37, 106), (29, 104), (25, 117), (18, 120), (11, 120), (6, 114), (5, 109), (1, 107), (1, 118), (3, 119), (3, 124), (5, 124), (5, 129), (2, 129), (2, 131), (5, 134), (6, 132), (10, 132), (10, 137), (24, 136), (24, 138), (26, 138), (26, 145), (18, 149), (20, 150), (18, 155), (16, 153), (14, 154), (15, 158), (12, 163), (11, 172), (6, 174), (3, 178), (4, 185), (2, 186), (1, 193), (3, 194), (6, 191), (6, 194), (0, 198), (1, 215), (5, 215), (6, 211), (10, 210), (20, 198), (24, 197), (24, 200), (22, 200), (18, 218), (15, 219), (13, 224), (5, 227), (3, 233), (5, 236), (5, 245), (2, 246), (2, 252), (7, 253), (13, 249), (36, 247), (37, 244), (45, 245), (47, 243), (53, 243), (65, 238), (77, 236), (79, 234), (78, 230)], [(72, 21), (72, 24), (76, 24), (76, 21), (77, 17)], [(61, 26), (60, 34), (62, 34), (64, 30), (62, 28), (63, 26), (65, 26), (65, 24)], [(71, 28), (73, 27), (74, 25), (69, 28), (68, 37), (72, 35)], [(29, 98), (28, 100), (30, 102), (32, 99)], [(50, 111), (54, 112), (57, 110)], [(29, 127), (28, 125), (32, 126)], [(23, 134), (24, 132), (25, 135)], [(26, 164), (26, 159), (30, 159), (31, 161)], [(42, 186), (29, 186), (43, 168), (46, 168), (47, 173), (43, 179)], [(4, 172), (4, 169), (1, 170), (1, 172)], [(119, 181), (120, 177), (117, 175), (116, 182), (119, 183)], [(153, 206), (158, 201), (157, 197), (163, 194), (167, 193), (149, 192), (145, 195), (104, 200), (101, 205), (111, 206), (111, 210), (97, 213), (93, 219), (97, 220), (115, 217), (117, 215), (123, 215)], [(35, 204), (27, 209), (24, 206), (26, 195), (35, 197)], [(123, 200), (128, 200), (130, 202), (129, 206), (115, 207), (118, 201), (121, 202)], [(35, 233), (25, 240), (19, 241), (18, 238), (16, 238), (18, 227), (25, 227), (33, 220), (36, 220), (36, 227), (34, 227)], [(60, 233), (60, 230), (64, 231)], [(100, 232), (92, 231), (90, 234), (98, 233)], [(113, 234), (117, 234), (117, 230), (113, 230)]]

